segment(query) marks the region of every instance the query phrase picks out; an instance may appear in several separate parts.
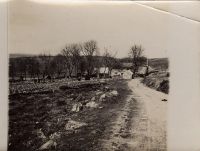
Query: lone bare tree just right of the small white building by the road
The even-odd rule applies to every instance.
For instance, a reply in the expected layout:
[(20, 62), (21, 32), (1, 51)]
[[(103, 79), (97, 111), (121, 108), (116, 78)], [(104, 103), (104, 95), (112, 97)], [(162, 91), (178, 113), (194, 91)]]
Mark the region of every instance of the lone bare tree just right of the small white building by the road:
[(130, 49), (130, 56), (132, 58), (132, 63), (133, 63), (133, 77), (135, 78), (135, 74), (138, 71), (138, 68), (140, 66), (140, 58), (142, 57), (142, 52), (143, 52), (142, 46), (134, 45)]

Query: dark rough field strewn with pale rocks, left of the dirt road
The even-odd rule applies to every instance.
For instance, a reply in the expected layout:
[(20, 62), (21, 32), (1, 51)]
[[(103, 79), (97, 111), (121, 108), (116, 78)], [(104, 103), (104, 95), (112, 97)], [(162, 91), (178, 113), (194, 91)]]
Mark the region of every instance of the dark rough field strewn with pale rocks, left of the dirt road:
[(123, 79), (10, 84), (8, 150), (101, 150), (130, 93)]

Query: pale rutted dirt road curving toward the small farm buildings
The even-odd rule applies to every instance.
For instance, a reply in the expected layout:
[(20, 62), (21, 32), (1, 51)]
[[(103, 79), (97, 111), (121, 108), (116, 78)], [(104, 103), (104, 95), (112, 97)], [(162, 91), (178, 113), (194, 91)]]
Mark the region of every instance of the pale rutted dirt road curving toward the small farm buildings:
[(150, 89), (139, 79), (129, 81), (132, 95), (117, 113), (118, 118), (102, 140), (104, 150), (165, 151), (167, 95)]

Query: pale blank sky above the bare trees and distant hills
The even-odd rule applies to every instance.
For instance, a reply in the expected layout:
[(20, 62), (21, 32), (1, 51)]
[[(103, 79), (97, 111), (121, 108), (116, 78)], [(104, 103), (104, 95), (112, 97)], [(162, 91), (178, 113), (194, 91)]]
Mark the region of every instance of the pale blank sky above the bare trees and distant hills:
[(100, 54), (106, 48), (127, 57), (137, 44), (146, 57), (168, 57), (171, 16), (134, 2), (17, 0), (9, 3), (8, 17), (9, 53), (56, 55), (67, 44), (96, 40)]

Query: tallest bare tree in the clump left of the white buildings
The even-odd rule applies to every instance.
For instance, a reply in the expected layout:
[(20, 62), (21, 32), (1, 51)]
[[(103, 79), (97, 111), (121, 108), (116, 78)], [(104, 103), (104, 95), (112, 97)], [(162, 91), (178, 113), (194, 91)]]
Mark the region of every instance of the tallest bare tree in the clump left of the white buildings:
[(94, 69), (94, 55), (98, 53), (97, 42), (94, 40), (87, 41), (83, 44), (83, 54), (87, 63), (87, 74), (91, 76)]

